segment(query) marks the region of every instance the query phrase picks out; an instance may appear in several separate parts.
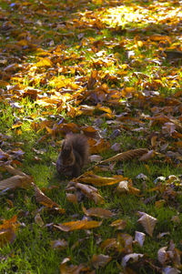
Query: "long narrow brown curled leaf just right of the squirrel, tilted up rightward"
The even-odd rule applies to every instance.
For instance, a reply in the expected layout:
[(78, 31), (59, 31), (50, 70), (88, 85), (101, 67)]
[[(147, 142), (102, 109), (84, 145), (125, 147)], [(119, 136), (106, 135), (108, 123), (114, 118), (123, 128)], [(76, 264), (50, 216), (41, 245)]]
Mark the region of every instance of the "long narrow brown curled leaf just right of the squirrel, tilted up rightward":
[(102, 161), (101, 163), (104, 164), (112, 161), (125, 161), (129, 159), (133, 159), (135, 157), (139, 157), (143, 154), (146, 154), (147, 152), (148, 152), (147, 148), (132, 149), (126, 152), (116, 154), (114, 157), (109, 157), (108, 159)]

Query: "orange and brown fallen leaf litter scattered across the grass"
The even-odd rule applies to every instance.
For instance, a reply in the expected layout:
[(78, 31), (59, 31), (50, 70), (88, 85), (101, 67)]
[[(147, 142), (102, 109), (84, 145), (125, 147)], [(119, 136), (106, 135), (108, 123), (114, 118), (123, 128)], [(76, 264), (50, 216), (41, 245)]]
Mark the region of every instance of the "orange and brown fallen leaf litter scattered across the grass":
[[(143, 189), (139, 189), (135, 181), (123, 175), (108, 177), (95, 174), (96, 168), (105, 168), (115, 174), (113, 168), (123, 161), (146, 165), (147, 177), (151, 163), (182, 170), (181, 3), (140, 2), (141, 5), (136, 5), (135, 1), (56, 1), (53, 9), (48, 0), (41, 3), (15, 1), (11, 4), (2, 1), (0, 103), (4, 104), (4, 108), (11, 107), (14, 120), (11, 126), (7, 126), (5, 134), (3, 131), (0, 133), (1, 194), (14, 193), (15, 188), (34, 189), (38, 205), (67, 216), (69, 210), (48, 198), (36, 186), (34, 178), (20, 170), (22, 165), (24, 167), (25, 151), (21, 143), (13, 143), (9, 133), (21, 137), (25, 121), (28, 121), (31, 129), (40, 135), (36, 145), (47, 143), (58, 147), (56, 142), (60, 145), (59, 139), (66, 133), (84, 132), (96, 165), (68, 183), (66, 198), (68, 203), (76, 206), (80, 201), (84, 205), (92, 201), (96, 207), (88, 208), (86, 204), (88, 209), (82, 206), (85, 218), (56, 222), (53, 227), (69, 233), (85, 229), (89, 234), (88, 230), (95, 231), (105, 224), (105, 220), (97, 221), (95, 218), (106, 218), (115, 231), (125, 231), (123, 234), (119, 231), (117, 237), (113, 233), (116, 238), (106, 238), (101, 244), (106, 254), (97, 251), (89, 264), (81, 261), (78, 266), (68, 266), (71, 260), (66, 258), (60, 262), (61, 273), (95, 273), (92, 268), (104, 268), (114, 259), (110, 249), (116, 249), (119, 259), (115, 259), (117, 265), (120, 264), (117, 267), (122, 271), (135, 273), (136, 266), (148, 266), (147, 254), (133, 252), (135, 244), (145, 247), (148, 236), (135, 231), (133, 240), (134, 231), (132, 235), (127, 233), (126, 216), (117, 218), (117, 210), (115, 213), (115, 210), (101, 208), (109, 199), (102, 196), (102, 188), (110, 189), (111, 198), (118, 196), (122, 199), (133, 196), (142, 200), (146, 195), (144, 188), (147, 188), (147, 194), (155, 192), (154, 216), (140, 211), (136, 222), (136, 227), (140, 226), (154, 240), (155, 230), (159, 232), (157, 209), (172, 206), (177, 210), (170, 218), (174, 228), (181, 221), (177, 202), (180, 176), (159, 179), (152, 187), (147, 187), (144, 175), (137, 178), (143, 183)], [(96, 9), (90, 8), (92, 5)], [(18, 14), (21, 15), (21, 27), (17, 25)], [(37, 16), (40, 16), (39, 19)], [(147, 54), (148, 48), (153, 56)], [(123, 56), (125, 61), (122, 61)], [(38, 107), (31, 116), (22, 115), (25, 99)], [(62, 117), (63, 113), (66, 118)], [(0, 110), (0, 115), (4, 117), (4, 109)], [(80, 117), (85, 117), (89, 123), (81, 125)], [(124, 135), (133, 139), (132, 146), (118, 144), (115, 140)], [(136, 146), (144, 140), (145, 147)], [(103, 157), (108, 150), (113, 150), (114, 156)], [(35, 157), (35, 160), (39, 162), (41, 157)], [(8, 178), (5, 178), (7, 174)], [(9, 207), (14, 205), (11, 199), (7, 200)], [(147, 198), (143, 201), (147, 205)], [(136, 211), (137, 208), (134, 215)], [(16, 231), (21, 229), (17, 218), (15, 215), (1, 219), (2, 247), (12, 244)], [(39, 212), (35, 214), (35, 223), (40, 228), (45, 227), (45, 220)], [(162, 232), (160, 230), (160, 234)], [(67, 243), (64, 239), (55, 239), (51, 241), (51, 246), (53, 249), (66, 249)], [(181, 269), (180, 255), (181, 251), (171, 239), (168, 245), (157, 251), (157, 259), (150, 260), (149, 268), (160, 273), (178, 273)]]

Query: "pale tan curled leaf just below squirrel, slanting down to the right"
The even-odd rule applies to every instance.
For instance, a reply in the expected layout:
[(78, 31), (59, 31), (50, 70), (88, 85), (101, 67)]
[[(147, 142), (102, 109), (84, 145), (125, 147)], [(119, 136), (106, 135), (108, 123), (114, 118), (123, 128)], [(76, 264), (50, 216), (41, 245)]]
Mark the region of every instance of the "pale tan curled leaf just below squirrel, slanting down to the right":
[(79, 188), (86, 195), (87, 198), (93, 199), (96, 204), (104, 203), (104, 198), (97, 193), (98, 189), (80, 183), (76, 183), (76, 188)]

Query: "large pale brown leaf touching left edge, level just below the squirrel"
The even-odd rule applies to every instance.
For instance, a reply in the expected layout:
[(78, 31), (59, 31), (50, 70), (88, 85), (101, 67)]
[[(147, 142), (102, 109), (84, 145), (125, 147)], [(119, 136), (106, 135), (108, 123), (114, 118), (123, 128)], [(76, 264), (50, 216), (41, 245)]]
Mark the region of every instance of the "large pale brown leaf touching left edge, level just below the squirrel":
[(15, 175), (11, 178), (6, 178), (5, 180), (0, 181), (0, 190), (5, 188), (30, 188), (32, 187), (32, 178), (30, 176), (20, 176)]

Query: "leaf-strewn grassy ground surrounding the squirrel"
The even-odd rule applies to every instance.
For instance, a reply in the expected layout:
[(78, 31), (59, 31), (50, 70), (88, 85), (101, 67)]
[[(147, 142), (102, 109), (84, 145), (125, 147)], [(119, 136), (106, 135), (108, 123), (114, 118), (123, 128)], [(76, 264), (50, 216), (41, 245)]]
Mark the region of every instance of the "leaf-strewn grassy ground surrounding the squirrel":
[[(3, 0), (0, 6), (0, 178), (11, 177), (7, 164), (20, 168), (66, 210), (55, 214), (37, 203), (33, 188), (2, 190), (1, 221), (16, 216), (19, 228), (6, 243), (0, 238), (0, 272), (168, 273), (170, 266), (177, 273), (182, 268), (179, 1)], [(107, 178), (122, 173), (139, 195), (118, 194), (113, 185), (98, 187), (104, 204), (86, 196), (77, 204), (66, 198), (68, 179), (58, 177), (55, 166), (61, 140), (68, 131), (84, 131), (91, 142), (96, 135), (90, 127), (107, 142), (107, 148), (91, 145), (91, 154), (103, 159), (136, 148), (154, 151), (147, 161), (134, 157), (113, 169), (94, 169)], [(93, 229), (54, 227), (86, 218), (83, 206), (106, 208), (115, 216)], [(137, 222), (138, 211), (157, 218), (151, 236)], [(126, 228), (111, 227), (117, 219)], [(136, 231), (146, 234), (142, 246), (134, 241)], [(102, 249), (108, 238), (116, 244)], [(56, 249), (58, 239), (64, 241)], [(144, 257), (124, 268), (122, 259), (134, 253)], [(93, 256), (99, 254), (110, 261), (98, 259), (96, 265)]]

